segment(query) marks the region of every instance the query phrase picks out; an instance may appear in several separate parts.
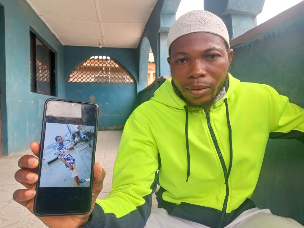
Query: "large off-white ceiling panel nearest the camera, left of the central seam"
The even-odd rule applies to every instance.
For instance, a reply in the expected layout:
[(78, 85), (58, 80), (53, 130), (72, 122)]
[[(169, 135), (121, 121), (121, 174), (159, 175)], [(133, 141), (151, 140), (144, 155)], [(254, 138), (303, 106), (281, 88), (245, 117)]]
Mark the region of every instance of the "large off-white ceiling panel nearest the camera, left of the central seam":
[(98, 21), (94, 0), (27, 0), (40, 16)]

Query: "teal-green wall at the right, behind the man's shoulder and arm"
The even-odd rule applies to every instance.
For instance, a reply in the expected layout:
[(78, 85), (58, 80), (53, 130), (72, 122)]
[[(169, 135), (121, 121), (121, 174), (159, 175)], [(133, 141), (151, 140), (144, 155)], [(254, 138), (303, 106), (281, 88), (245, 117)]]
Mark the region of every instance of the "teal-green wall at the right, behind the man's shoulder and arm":
[[(241, 81), (271, 85), (304, 107), (304, 14), (232, 47), (231, 73)], [(304, 121), (304, 120), (303, 120)], [(258, 143), (258, 142), (257, 142)], [(269, 140), (252, 199), (260, 208), (304, 225), (304, 144)]]

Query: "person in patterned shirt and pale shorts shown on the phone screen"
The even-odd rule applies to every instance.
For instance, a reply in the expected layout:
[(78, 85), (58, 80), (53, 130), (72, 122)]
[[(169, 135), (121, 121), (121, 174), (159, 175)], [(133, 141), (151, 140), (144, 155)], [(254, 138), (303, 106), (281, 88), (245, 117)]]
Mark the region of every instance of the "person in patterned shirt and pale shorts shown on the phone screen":
[(55, 140), (58, 143), (58, 147), (56, 148), (57, 157), (60, 158), (60, 160), (65, 164), (65, 167), (70, 171), (71, 177), (74, 178), (77, 187), (83, 188), (83, 186), (81, 186), (79, 183), (83, 183), (85, 180), (80, 180), (78, 178), (78, 168), (75, 164), (75, 159), (70, 154), (70, 150), (64, 145), (61, 136), (56, 136)]

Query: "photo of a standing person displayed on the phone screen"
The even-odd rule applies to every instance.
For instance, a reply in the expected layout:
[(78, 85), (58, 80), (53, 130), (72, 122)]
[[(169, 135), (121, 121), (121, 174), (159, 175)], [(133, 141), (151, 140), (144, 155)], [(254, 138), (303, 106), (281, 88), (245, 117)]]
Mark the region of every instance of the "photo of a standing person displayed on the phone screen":
[(46, 123), (40, 187), (90, 187), (94, 126)]

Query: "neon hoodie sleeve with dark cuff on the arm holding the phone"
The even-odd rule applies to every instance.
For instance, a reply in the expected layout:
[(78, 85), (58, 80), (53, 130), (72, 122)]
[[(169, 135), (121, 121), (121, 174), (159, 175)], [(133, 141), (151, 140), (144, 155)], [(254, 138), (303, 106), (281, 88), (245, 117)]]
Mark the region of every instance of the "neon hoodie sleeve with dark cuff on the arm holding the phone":
[(84, 227), (143, 228), (157, 187), (158, 149), (148, 126), (130, 116), (123, 130), (109, 195), (97, 199)]

